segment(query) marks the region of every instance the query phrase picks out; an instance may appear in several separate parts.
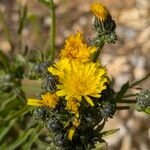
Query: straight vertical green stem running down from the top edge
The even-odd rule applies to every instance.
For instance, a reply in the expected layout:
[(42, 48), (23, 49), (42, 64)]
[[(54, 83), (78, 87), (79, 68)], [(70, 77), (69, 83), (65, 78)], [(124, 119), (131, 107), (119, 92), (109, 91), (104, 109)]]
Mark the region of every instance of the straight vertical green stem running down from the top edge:
[(50, 50), (48, 54), (50, 55), (50, 60), (54, 61), (55, 56), (55, 38), (56, 38), (56, 16), (55, 16), (55, 5), (53, 0), (50, 0), (50, 13), (51, 13), (51, 28), (50, 28)]

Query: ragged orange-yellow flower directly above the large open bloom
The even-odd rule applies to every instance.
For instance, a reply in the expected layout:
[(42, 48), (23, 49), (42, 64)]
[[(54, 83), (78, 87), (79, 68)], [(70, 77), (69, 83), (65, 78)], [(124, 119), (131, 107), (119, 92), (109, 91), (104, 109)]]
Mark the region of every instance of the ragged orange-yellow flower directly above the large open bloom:
[(88, 47), (81, 32), (71, 35), (65, 40), (65, 47), (60, 52), (61, 58), (77, 59), (85, 62), (96, 51), (95, 47)]

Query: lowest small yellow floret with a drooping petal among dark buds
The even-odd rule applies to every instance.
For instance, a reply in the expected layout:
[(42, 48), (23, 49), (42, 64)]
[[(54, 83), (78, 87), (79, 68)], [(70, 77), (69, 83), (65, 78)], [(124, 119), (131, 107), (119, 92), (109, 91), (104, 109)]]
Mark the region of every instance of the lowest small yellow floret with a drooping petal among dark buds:
[(73, 126), (68, 131), (68, 140), (72, 141), (73, 135), (77, 129), (77, 127), (80, 125), (80, 121), (75, 118), (72, 122)]

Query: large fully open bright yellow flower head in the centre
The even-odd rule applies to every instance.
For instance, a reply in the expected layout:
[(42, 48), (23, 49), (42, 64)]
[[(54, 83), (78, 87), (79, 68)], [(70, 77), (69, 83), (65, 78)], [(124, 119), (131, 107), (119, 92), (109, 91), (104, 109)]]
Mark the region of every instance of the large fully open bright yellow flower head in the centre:
[[(94, 103), (90, 97), (100, 97), (102, 90), (106, 89), (105, 83), (108, 81), (105, 68), (99, 63), (80, 61), (60, 60), (55, 64), (55, 68), (48, 70), (59, 77), (60, 84), (57, 85), (58, 96), (65, 96), (66, 100), (75, 98), (81, 101), (82, 97), (91, 105)], [(64, 67), (65, 64), (65, 67)], [(62, 69), (63, 68), (63, 69)], [(60, 74), (60, 72), (62, 72)]]

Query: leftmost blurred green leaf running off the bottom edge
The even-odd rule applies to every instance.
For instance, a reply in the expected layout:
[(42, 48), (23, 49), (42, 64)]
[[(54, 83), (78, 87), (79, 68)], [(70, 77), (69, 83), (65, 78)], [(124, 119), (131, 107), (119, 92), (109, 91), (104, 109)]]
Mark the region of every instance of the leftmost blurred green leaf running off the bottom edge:
[(24, 131), (12, 144), (10, 144), (7, 147), (7, 150), (15, 150), (18, 146), (20, 146), (22, 143), (24, 143), (27, 138), (31, 135), (33, 132), (33, 128), (29, 129), (28, 131)]

